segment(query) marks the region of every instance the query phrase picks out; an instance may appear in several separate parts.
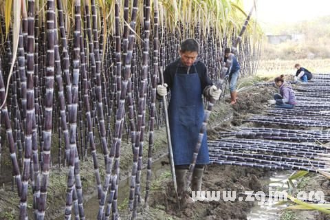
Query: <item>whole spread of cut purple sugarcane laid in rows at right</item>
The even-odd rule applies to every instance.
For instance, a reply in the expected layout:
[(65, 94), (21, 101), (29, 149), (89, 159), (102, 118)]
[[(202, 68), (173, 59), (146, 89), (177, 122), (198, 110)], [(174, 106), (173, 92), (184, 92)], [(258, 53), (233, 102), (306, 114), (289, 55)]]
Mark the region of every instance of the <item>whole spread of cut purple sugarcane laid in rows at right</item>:
[(330, 127), (330, 102), (325, 98), (330, 93), (330, 75), (317, 74), (310, 84), (298, 85), (296, 91), (295, 109), (268, 108), (263, 115), (252, 115), (244, 121), (306, 130), (241, 127), (221, 132), (221, 139), (209, 142), (211, 162), (314, 173), (329, 170), (330, 149), (321, 143), (329, 142), (330, 137), (329, 129), (325, 130)]

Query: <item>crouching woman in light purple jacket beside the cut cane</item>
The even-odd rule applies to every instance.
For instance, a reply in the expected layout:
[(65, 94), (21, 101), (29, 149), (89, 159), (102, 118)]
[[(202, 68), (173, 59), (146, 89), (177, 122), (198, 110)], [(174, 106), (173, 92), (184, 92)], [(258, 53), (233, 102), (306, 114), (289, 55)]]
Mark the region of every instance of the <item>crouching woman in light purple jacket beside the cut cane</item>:
[(274, 100), (269, 100), (268, 103), (276, 104), (276, 108), (293, 109), (296, 105), (296, 96), (291, 85), (284, 81), (284, 75), (276, 77), (274, 81), (280, 94), (274, 94)]

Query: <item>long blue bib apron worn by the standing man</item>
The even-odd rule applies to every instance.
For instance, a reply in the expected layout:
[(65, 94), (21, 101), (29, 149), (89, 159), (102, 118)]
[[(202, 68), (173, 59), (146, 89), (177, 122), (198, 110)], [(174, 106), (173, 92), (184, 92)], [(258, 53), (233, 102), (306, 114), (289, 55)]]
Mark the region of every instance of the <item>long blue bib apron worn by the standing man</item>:
[[(168, 120), (170, 122), (170, 137), (175, 165), (191, 163), (204, 118), (201, 81), (195, 65), (193, 67), (195, 72), (191, 74), (178, 74), (176, 70), (173, 86), (170, 90)], [(196, 164), (208, 163), (208, 145), (205, 131)]]

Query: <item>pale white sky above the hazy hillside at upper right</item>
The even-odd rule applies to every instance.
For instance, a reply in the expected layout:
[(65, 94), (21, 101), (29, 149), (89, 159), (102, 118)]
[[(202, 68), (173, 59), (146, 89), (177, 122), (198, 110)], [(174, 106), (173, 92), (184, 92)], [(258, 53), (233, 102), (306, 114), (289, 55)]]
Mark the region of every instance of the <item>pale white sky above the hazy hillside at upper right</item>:
[[(243, 0), (245, 12), (250, 12), (253, 0)], [(329, 0), (256, 0), (256, 17), (259, 23), (292, 23), (330, 16)]]

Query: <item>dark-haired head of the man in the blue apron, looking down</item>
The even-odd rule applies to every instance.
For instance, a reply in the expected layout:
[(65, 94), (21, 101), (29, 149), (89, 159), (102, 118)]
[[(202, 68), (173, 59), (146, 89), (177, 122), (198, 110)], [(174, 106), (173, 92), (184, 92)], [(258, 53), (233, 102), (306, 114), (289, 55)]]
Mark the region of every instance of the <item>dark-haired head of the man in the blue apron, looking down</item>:
[(198, 52), (199, 43), (195, 39), (186, 39), (182, 41), (179, 50), (182, 64), (190, 67), (196, 61)]

